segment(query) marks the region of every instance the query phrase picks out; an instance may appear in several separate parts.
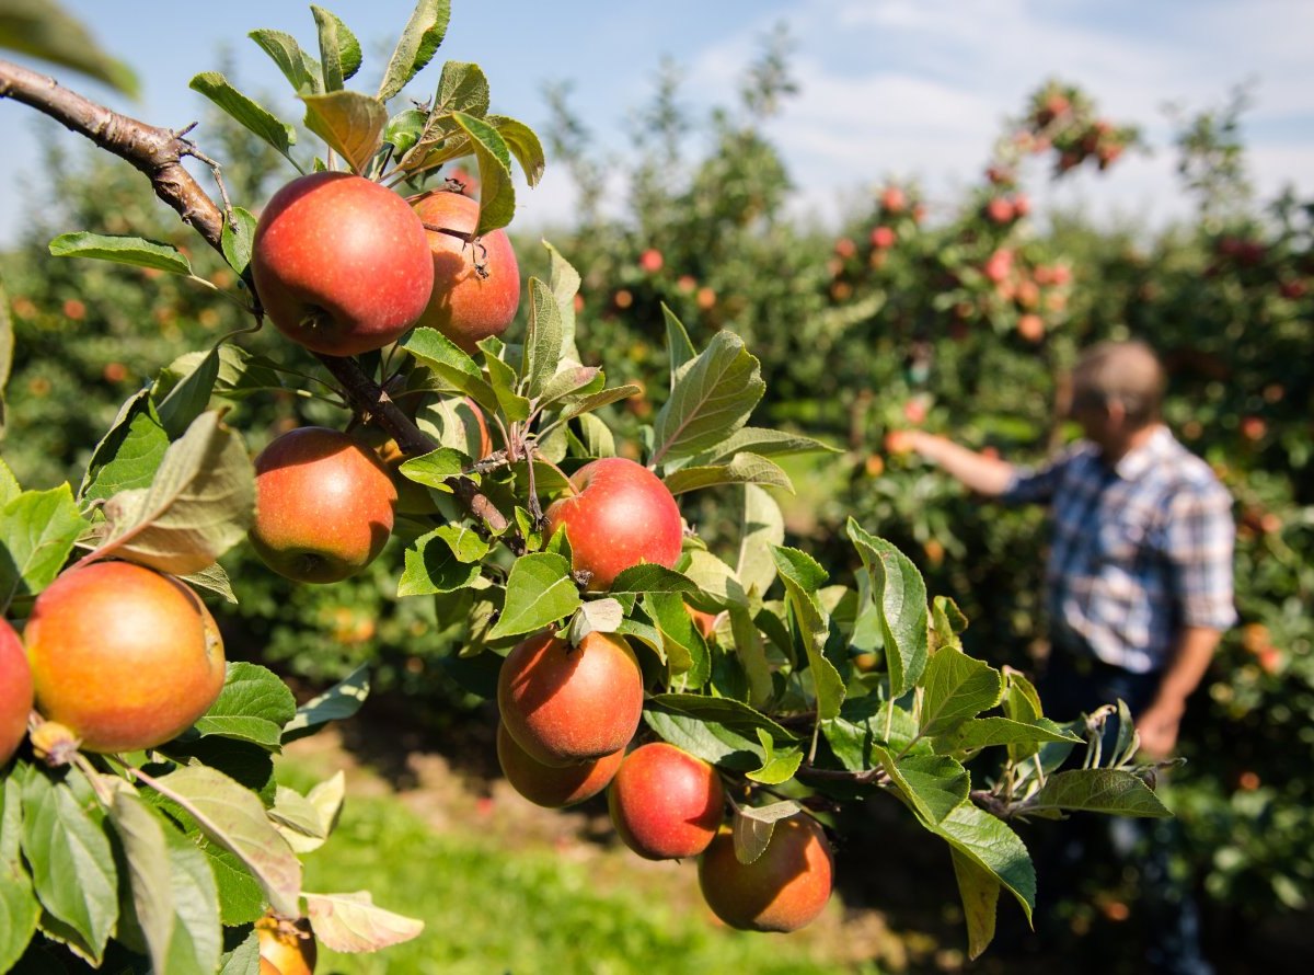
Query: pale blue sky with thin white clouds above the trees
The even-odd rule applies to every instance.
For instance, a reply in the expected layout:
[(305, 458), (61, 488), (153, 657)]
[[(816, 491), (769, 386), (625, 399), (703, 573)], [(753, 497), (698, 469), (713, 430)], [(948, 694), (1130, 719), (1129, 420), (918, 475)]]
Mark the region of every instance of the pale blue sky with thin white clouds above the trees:
[[(204, 113), (187, 88), (221, 67), (225, 49), (250, 93), (279, 92), (269, 106), (297, 109), (273, 63), (247, 39), (275, 28), (314, 50), (309, 4), (226, 0), (164, 8), (116, 0), (64, 0), (143, 83), (130, 102), (62, 74), (84, 93), (159, 125)], [(410, 13), (409, 0), (325, 0), (365, 49), (373, 79)], [(167, 11), (160, 13), (159, 11)], [(887, 176), (917, 176), (932, 202), (951, 202), (979, 177), (1005, 116), (1046, 78), (1081, 85), (1106, 114), (1143, 127), (1155, 152), (1110, 176), (1093, 173), (1030, 189), (1047, 202), (1160, 222), (1187, 210), (1172, 176), (1166, 102), (1218, 106), (1252, 85), (1244, 116), (1251, 175), (1263, 196), (1294, 184), (1314, 197), (1314, 3), (1309, 0), (453, 0), (436, 60), (474, 60), (493, 85), (494, 109), (540, 125), (541, 88), (573, 84), (573, 104), (600, 146), (627, 146), (627, 117), (653, 91), (664, 57), (682, 68), (681, 100), (699, 118), (733, 99), (759, 38), (786, 24), (800, 93), (773, 124), (799, 184), (800, 213), (834, 222)], [(58, 74), (58, 72), (57, 72)], [(436, 80), (436, 66), (414, 92)], [(13, 239), (35, 166), (33, 113), (0, 101), (0, 243)], [(71, 137), (70, 137), (71, 138)], [(205, 147), (204, 129), (197, 134)], [(289, 176), (290, 176), (289, 170)], [(618, 187), (618, 193), (620, 188)], [(520, 193), (518, 222), (532, 227), (570, 210), (572, 187), (549, 160), (543, 185)]]

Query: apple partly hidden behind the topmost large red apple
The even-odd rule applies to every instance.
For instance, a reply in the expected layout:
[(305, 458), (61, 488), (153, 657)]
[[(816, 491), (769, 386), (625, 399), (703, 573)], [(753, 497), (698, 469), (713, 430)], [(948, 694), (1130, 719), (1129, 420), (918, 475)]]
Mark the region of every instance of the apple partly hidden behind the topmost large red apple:
[(434, 292), (417, 325), (438, 329), (473, 353), (481, 339), (505, 332), (520, 306), (511, 238), (493, 230), (470, 239), (480, 205), (460, 193), (431, 193), (415, 204), (415, 213), (426, 225), (434, 264)]

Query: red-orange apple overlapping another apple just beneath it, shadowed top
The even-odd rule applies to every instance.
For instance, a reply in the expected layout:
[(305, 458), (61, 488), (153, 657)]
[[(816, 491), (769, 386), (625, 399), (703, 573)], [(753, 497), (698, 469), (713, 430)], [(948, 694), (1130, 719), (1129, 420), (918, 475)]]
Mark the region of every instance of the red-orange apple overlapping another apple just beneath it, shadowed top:
[(623, 637), (593, 632), (572, 646), (543, 632), (502, 662), (497, 703), (507, 733), (536, 761), (591, 762), (622, 750), (639, 729), (643, 673)]

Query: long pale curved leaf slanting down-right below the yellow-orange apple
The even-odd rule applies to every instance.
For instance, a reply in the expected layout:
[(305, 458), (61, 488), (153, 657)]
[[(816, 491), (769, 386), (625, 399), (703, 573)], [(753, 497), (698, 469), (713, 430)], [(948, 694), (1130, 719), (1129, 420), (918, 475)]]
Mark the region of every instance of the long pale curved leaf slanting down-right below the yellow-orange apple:
[(181, 805), (206, 837), (240, 859), (275, 911), (290, 917), (301, 913), (301, 862), (269, 823), (259, 796), (201, 765), (171, 771), (148, 784)]

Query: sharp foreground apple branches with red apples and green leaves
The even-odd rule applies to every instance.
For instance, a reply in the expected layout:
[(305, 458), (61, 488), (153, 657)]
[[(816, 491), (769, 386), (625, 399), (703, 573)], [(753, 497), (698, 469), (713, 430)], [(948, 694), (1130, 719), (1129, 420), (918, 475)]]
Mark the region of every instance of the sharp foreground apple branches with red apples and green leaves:
[[(218, 566), (235, 545), (336, 585), (399, 540), (396, 595), (464, 628), (457, 670), (497, 700), (516, 788), (544, 805), (610, 788), (623, 840), (699, 855), (704, 899), (736, 928), (795, 930), (825, 907), (845, 869), (837, 804), (888, 796), (947, 846), (972, 955), (1001, 891), (1034, 907), (1009, 820), (1167, 815), (1125, 708), (1046, 715), (1022, 674), (964, 652), (967, 619), (890, 541), (850, 520), (853, 577), (784, 544), (778, 461), (829, 448), (752, 423), (762, 368), (732, 329), (698, 347), (661, 309), (661, 406), (618, 442), (607, 410), (639, 386), (583, 364), (579, 271), (545, 244), (547, 277), (520, 294), (502, 235), (518, 173), (532, 187), (547, 163), (535, 133), (490, 113), (470, 63), (392, 105), (434, 59), (449, 4), (417, 5), (371, 93), (346, 87), (361, 67), (352, 32), (311, 12), (318, 58), (279, 32), (251, 38), (315, 148), (223, 75), (192, 80), (288, 163), (263, 208), (230, 197), (197, 133), (0, 62), (0, 93), (141, 170), (231, 286), (131, 234), (71, 229), (51, 255), (194, 280), (250, 314), (160, 363), (76, 486), (24, 488), (0, 466), (0, 962), (49, 949), (254, 974), (271, 933), (338, 950), (417, 933), (368, 892), (302, 890), (297, 857), (328, 838), (342, 781), (293, 792), (271, 756), (355, 712), (367, 681), (297, 707), (271, 671), (223, 665), (201, 595), (242, 597)], [(212, 170), (218, 198), (184, 159)], [(459, 160), (477, 205), (455, 198)], [(285, 355), (246, 347), (265, 319)], [(327, 390), (338, 423), (252, 460), (227, 410), (271, 386)], [(682, 516), (699, 493), (735, 506), (733, 537)]]

